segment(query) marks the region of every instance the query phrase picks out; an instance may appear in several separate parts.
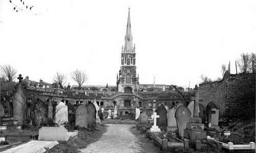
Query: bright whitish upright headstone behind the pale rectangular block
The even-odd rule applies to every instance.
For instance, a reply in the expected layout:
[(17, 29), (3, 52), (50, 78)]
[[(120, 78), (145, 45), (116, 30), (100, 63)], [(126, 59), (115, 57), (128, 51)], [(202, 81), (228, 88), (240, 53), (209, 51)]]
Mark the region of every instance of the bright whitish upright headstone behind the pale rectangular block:
[(55, 123), (63, 124), (68, 122), (68, 106), (63, 102), (59, 102), (55, 109)]

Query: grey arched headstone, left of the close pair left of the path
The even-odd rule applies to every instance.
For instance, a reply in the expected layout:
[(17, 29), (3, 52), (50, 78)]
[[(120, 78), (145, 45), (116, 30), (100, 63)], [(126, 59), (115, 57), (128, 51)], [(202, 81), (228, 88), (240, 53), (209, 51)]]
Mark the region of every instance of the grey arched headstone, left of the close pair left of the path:
[(76, 126), (87, 127), (88, 125), (87, 116), (88, 116), (88, 111), (86, 108), (86, 104), (82, 103), (78, 105), (78, 107), (76, 108)]

